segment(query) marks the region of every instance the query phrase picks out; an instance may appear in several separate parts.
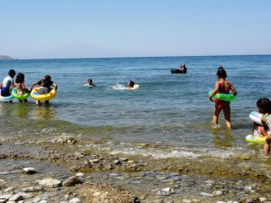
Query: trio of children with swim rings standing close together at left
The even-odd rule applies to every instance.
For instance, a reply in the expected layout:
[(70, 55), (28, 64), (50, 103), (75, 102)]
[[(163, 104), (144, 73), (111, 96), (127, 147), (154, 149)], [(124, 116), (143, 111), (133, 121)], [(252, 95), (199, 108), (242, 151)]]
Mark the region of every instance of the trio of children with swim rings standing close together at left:
[[(51, 76), (49, 75), (44, 76), (44, 78), (42, 78), (40, 81), (33, 82), (30, 89), (25, 87), (23, 73), (19, 72), (16, 75), (15, 82), (14, 82), (15, 75), (16, 75), (15, 70), (10, 69), (8, 71), (8, 76), (6, 76), (3, 82), (0, 84), (2, 97), (9, 97), (11, 95), (11, 92), (10, 92), (11, 88), (17, 88), (17, 94), (19, 96), (23, 96), (23, 94), (25, 93), (30, 93), (33, 90), (33, 87), (37, 85), (40, 86), (40, 89), (38, 92), (40, 95), (49, 93), (51, 91), (51, 87), (54, 87), (54, 89), (57, 91), (58, 86), (56, 83), (51, 81)], [(19, 99), (19, 101), (21, 103), (23, 103), (23, 101), (27, 102), (27, 98), (23, 100)], [(49, 103), (49, 100), (45, 101), (45, 104), (48, 104), (48, 103)], [(36, 104), (40, 105), (41, 101), (36, 100)]]

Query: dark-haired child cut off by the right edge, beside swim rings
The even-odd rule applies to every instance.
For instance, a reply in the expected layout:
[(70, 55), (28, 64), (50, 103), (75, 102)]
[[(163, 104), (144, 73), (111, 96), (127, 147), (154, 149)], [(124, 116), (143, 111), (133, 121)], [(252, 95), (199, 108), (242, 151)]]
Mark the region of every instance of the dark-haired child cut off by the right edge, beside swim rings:
[(260, 134), (266, 137), (264, 146), (265, 156), (269, 155), (270, 143), (271, 143), (271, 102), (268, 98), (260, 98), (257, 100), (257, 111), (263, 114), (262, 124), (263, 126), (257, 126), (257, 130)]

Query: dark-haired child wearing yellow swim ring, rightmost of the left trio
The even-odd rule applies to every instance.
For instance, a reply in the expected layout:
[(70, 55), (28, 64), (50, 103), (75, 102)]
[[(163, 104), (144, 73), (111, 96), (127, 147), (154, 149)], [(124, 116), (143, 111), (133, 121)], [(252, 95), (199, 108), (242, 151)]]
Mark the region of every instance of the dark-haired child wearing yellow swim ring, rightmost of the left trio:
[[(51, 91), (51, 86), (54, 87), (55, 91), (57, 91), (58, 89), (57, 84), (51, 81), (51, 76), (49, 75), (44, 76), (44, 78), (38, 82), (34, 82), (32, 84), (30, 91), (32, 91), (33, 87), (36, 85), (41, 86), (39, 90), (40, 95), (49, 93)], [(40, 105), (40, 104), (41, 104), (41, 101), (36, 100), (36, 105)], [(46, 100), (45, 104), (49, 104), (49, 100)]]

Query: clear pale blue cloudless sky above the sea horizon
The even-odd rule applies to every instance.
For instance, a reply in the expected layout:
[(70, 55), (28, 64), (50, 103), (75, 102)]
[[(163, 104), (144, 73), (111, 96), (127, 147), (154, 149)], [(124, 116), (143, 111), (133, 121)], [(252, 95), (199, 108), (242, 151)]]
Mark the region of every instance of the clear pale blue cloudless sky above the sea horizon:
[(15, 59), (271, 54), (270, 0), (0, 0)]

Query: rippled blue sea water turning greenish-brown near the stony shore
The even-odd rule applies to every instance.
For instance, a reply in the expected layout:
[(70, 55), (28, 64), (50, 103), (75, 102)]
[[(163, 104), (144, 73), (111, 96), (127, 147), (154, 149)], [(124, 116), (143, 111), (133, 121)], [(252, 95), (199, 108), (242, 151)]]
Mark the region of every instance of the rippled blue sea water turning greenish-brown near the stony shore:
[[(185, 63), (187, 74), (170, 69)], [(222, 65), (228, 80), (238, 90), (231, 103), (233, 130), (211, 126), (213, 103), (208, 91), (214, 88), (216, 71)], [(0, 103), (1, 135), (33, 134), (37, 123), (54, 127), (55, 135), (83, 134), (119, 143), (159, 143), (167, 156), (220, 156), (249, 152), (245, 137), (252, 131), (248, 114), (256, 110), (260, 97), (270, 96), (271, 55), (119, 58), (76, 60), (2, 60), (0, 76), (8, 69), (23, 72), (28, 88), (50, 74), (59, 85), (50, 106)], [(92, 78), (96, 88), (84, 88)], [(137, 90), (117, 88), (128, 80)], [(262, 147), (252, 147), (260, 152)], [(129, 152), (129, 147), (123, 152)], [(130, 150), (132, 152), (132, 150)], [(133, 149), (135, 153), (135, 149)], [(152, 153), (152, 152), (150, 152)]]

